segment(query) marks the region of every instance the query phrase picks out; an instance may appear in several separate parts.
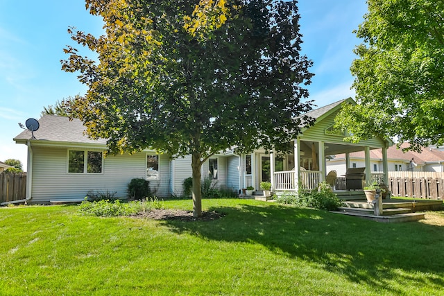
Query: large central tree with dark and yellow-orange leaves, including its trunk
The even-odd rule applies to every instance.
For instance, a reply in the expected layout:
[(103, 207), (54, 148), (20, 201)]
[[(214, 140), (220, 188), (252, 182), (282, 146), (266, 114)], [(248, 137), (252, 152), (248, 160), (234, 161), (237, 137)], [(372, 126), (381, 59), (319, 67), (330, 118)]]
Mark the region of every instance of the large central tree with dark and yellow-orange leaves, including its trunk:
[(311, 123), (298, 116), (312, 76), (300, 55), (296, 1), (87, 0), (105, 35), (69, 29), (99, 62), (65, 49), (65, 71), (89, 90), (76, 112), (111, 153), (191, 155), (194, 216), (200, 169), (228, 148), (279, 148)]

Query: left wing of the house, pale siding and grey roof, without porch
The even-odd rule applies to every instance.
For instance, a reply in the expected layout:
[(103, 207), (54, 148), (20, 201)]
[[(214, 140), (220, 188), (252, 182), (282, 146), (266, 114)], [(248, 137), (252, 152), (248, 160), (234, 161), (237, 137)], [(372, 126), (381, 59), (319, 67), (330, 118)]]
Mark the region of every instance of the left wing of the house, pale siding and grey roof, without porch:
[[(28, 146), (26, 199), (31, 202), (83, 200), (91, 191), (125, 198), (128, 183), (139, 177), (149, 180), (159, 197), (180, 195), (183, 180), (191, 176), (191, 157), (171, 159), (154, 150), (105, 155), (106, 140), (89, 139), (80, 120), (44, 115), (39, 122), (35, 139), (28, 130), (14, 139)], [(239, 177), (233, 181), (230, 176), (237, 172), (238, 159), (232, 153), (214, 155), (203, 165), (203, 172), (211, 168), (214, 182), (237, 191)]]

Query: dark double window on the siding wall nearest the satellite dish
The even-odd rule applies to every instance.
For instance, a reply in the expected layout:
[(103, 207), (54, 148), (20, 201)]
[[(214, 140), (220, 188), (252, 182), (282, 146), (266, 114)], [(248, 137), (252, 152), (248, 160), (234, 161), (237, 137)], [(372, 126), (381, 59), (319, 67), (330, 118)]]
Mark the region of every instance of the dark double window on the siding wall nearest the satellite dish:
[(68, 173), (102, 173), (101, 151), (69, 150)]

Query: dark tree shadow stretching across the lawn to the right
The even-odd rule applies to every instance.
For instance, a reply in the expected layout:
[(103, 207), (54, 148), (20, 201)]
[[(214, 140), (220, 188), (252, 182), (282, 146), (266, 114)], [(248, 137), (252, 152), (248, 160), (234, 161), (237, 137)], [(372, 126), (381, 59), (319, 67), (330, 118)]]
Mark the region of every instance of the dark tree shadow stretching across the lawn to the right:
[[(390, 281), (444, 286), (444, 227), (376, 223), (313, 209), (241, 204), (213, 207), (211, 222), (164, 221), (173, 232), (214, 241), (259, 243), (277, 254), (305, 259), (355, 283), (395, 290)], [(406, 282), (407, 284), (407, 282)]]

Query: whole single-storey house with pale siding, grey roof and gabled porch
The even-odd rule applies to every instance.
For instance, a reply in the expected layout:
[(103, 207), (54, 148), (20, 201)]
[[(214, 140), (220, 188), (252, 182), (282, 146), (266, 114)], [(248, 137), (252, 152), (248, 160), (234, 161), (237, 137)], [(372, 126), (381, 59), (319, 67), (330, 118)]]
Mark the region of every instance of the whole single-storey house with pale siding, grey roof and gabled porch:
[[(307, 115), (316, 123), (289, 143), (287, 153), (259, 149), (239, 155), (228, 150), (203, 164), (203, 177), (211, 177), (216, 186), (236, 192), (247, 186), (259, 190), (264, 181), (271, 182), (271, 189), (276, 192), (297, 191), (299, 184), (314, 189), (325, 180), (327, 159), (332, 155), (345, 153), (348, 163), (350, 153), (364, 151), (363, 166), (370, 172), (370, 151), (375, 149), (382, 149), (383, 171), (387, 172), (384, 155), (393, 144), (391, 141), (375, 137), (345, 143), (346, 134), (334, 129), (334, 116), (343, 103), (355, 102), (348, 98), (309, 112)], [(158, 197), (180, 195), (183, 181), (191, 176), (191, 157), (173, 158), (154, 150), (105, 155), (106, 140), (89, 139), (78, 119), (45, 115), (34, 138), (24, 130), (14, 140), (28, 146), (26, 199), (30, 202), (83, 200), (89, 191), (108, 191), (126, 197), (128, 183), (138, 177), (149, 180)]]

